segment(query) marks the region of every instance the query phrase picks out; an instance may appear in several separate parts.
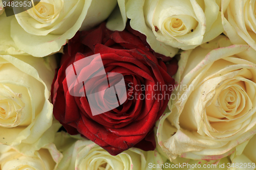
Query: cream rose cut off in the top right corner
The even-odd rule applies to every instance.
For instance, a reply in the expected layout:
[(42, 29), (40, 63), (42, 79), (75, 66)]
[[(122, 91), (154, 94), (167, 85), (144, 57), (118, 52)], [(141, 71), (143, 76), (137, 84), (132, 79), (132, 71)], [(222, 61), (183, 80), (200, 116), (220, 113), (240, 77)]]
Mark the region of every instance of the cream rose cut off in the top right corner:
[(222, 0), (222, 24), (233, 44), (249, 44), (256, 50), (256, 2)]

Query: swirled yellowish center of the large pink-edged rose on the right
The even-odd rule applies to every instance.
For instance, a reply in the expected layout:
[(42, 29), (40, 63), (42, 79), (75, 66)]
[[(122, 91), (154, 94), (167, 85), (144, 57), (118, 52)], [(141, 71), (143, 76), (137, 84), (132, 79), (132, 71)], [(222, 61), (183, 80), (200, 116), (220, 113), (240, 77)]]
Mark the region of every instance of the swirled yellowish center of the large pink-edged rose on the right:
[[(222, 82), (221, 86), (216, 90), (214, 100), (206, 108), (209, 120), (208, 126), (220, 132), (232, 129), (232, 132), (229, 130), (227, 134), (237, 133), (240, 130), (240, 125), (237, 125), (236, 128), (234, 125), (240, 124), (240, 120), (242, 122), (243, 119), (249, 119), (251, 117), (250, 110), (255, 104), (256, 84), (253, 82), (254, 71), (242, 68), (234, 72), (238, 73), (238, 75)], [(225, 136), (225, 133), (223, 135)]]

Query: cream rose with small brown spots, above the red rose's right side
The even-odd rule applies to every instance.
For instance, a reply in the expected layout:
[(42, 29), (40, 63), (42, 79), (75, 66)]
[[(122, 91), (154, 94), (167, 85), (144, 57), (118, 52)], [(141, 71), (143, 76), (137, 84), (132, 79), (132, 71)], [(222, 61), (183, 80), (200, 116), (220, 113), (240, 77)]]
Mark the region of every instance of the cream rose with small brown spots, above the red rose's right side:
[(153, 50), (165, 56), (176, 54), (173, 47), (195, 48), (224, 31), (220, 1), (130, 0), (125, 7), (131, 27), (145, 34)]

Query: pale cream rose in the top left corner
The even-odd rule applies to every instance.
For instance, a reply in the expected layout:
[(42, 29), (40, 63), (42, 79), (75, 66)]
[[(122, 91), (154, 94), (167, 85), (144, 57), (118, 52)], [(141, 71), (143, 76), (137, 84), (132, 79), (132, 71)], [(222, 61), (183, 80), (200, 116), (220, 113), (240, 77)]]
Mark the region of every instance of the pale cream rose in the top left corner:
[(44, 57), (59, 51), (80, 27), (89, 29), (106, 19), (115, 6), (116, 0), (41, 0), (15, 15), (11, 37), (20, 50)]

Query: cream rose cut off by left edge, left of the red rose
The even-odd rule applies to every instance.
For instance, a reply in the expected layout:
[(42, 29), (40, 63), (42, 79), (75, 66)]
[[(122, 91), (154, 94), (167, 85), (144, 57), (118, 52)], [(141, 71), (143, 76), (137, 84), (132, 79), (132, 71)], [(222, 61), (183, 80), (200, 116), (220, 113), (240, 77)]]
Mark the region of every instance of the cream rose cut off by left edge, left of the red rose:
[(54, 56), (0, 55), (0, 144), (33, 144), (52, 125)]

